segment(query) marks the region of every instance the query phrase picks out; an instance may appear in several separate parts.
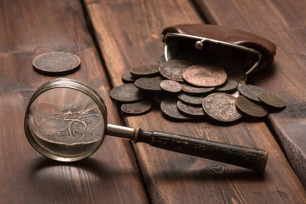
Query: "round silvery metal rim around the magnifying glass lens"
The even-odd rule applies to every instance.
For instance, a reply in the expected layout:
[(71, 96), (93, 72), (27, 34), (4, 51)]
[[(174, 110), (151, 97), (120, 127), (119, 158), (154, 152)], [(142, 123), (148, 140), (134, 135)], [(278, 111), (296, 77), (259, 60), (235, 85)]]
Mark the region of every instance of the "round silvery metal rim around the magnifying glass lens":
[[(33, 136), (31, 135), (29, 128), (28, 128), (28, 122), (27, 122), (27, 118), (28, 118), (28, 114), (29, 114), (29, 108), (31, 106), (31, 104), (33, 103), (33, 101), (43, 92), (48, 91), (50, 89), (54, 89), (54, 88), (71, 88), (71, 89), (75, 89), (78, 91), (81, 91), (83, 93), (85, 93), (86, 95), (88, 95), (89, 97), (91, 97), (95, 103), (97, 104), (97, 106), (99, 107), (103, 117), (104, 117), (104, 133), (102, 135), (102, 139), (100, 141), (100, 143), (98, 145), (96, 145), (96, 147), (94, 149), (92, 149), (91, 151), (87, 152), (84, 155), (78, 156), (78, 157), (71, 157), (71, 158), (65, 158), (65, 157), (60, 157), (60, 156), (56, 156), (51, 154), (50, 152), (48, 152), (47, 150), (45, 150), (44, 148), (42, 148), (39, 144), (37, 144), (37, 142), (33, 139)], [(106, 129), (107, 129), (107, 110), (106, 110), (106, 106), (104, 104), (103, 99), (100, 97), (100, 95), (93, 89), (91, 89), (90, 87), (88, 87), (87, 85), (75, 81), (75, 80), (71, 80), (71, 79), (56, 79), (50, 82), (47, 82), (45, 84), (43, 84), (42, 86), (40, 86), (33, 94), (33, 96), (31, 97), (27, 110), (25, 112), (25, 117), (24, 117), (24, 131), (25, 131), (25, 135), (27, 136), (28, 141), (30, 142), (30, 144), (33, 146), (34, 149), (36, 149), (40, 154), (42, 154), (43, 156), (53, 159), (53, 160), (57, 160), (57, 161), (61, 161), (61, 162), (73, 162), (73, 161), (79, 161), (82, 160), (86, 157), (89, 157), (90, 155), (92, 155), (102, 144), (104, 137), (105, 137), (105, 133), (106, 133)]]

